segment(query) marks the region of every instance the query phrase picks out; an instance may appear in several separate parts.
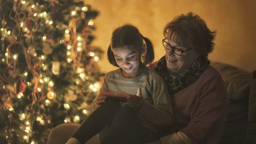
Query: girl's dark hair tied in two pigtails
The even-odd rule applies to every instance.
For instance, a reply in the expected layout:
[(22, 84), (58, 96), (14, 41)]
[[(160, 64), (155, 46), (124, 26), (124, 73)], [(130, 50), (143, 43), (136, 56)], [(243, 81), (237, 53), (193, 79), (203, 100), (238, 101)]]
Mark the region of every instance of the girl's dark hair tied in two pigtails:
[(147, 65), (155, 58), (151, 41), (147, 37), (142, 36), (138, 28), (135, 26), (123, 25), (116, 28), (116, 30), (112, 32), (111, 45), (109, 45), (109, 48), (107, 49), (107, 58), (109, 59), (109, 63), (118, 67), (111, 48), (140, 48), (140, 51), (142, 51), (143, 40), (145, 41), (146, 46), (145, 53), (142, 54), (141, 59), (142, 63)]

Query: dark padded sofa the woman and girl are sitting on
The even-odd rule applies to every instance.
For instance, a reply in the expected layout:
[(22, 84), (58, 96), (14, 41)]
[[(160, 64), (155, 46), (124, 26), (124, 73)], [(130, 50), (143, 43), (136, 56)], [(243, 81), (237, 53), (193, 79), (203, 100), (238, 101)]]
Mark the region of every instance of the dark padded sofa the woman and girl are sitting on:
[[(229, 94), (228, 118), (220, 144), (256, 143), (256, 70), (246, 72), (219, 62), (212, 62), (211, 66), (220, 72)], [(55, 127), (47, 143), (65, 143), (78, 127), (76, 124)], [(97, 143), (98, 135), (86, 144)]]

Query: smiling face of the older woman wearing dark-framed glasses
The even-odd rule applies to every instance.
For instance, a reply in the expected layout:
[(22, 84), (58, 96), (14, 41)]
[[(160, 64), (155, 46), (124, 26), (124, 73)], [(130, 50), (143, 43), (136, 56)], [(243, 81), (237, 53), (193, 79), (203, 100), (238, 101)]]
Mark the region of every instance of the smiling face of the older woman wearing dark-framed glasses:
[[(180, 48), (181, 50), (187, 50), (188, 48), (181, 47), (175, 43), (172, 39), (166, 39), (169, 45), (172, 47)], [(166, 65), (169, 71), (171, 72), (185, 72), (187, 68), (191, 67), (195, 59), (198, 57), (198, 53), (192, 48), (191, 50), (187, 50), (186, 52), (182, 53), (182, 56), (178, 56), (173, 53), (173, 48), (167, 50), (165, 48), (165, 58), (166, 58)]]

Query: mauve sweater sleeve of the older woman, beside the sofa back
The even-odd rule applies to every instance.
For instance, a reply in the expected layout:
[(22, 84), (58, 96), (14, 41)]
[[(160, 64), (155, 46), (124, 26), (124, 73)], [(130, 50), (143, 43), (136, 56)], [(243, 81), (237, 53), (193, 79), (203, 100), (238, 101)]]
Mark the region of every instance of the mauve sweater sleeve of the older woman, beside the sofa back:
[(191, 121), (181, 132), (197, 143), (219, 143), (228, 114), (228, 92), (219, 75), (202, 85)]

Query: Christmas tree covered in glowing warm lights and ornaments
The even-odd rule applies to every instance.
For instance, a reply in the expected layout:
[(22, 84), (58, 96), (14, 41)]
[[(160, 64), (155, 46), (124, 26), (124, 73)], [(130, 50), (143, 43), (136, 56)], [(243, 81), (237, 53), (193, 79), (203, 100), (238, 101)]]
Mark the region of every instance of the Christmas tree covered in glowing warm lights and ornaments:
[(87, 117), (103, 75), (97, 15), (80, 0), (0, 2), (0, 143), (46, 143)]

